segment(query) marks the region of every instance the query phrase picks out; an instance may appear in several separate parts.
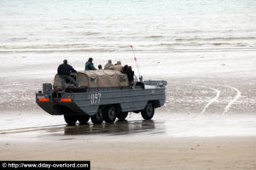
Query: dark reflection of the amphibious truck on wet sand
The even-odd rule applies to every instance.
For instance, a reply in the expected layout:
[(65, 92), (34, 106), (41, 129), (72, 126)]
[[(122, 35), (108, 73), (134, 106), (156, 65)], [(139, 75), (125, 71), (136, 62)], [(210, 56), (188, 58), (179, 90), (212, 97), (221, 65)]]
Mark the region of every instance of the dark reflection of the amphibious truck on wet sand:
[[(158, 123), (160, 124), (160, 123)], [(64, 128), (66, 135), (76, 134), (102, 134), (108, 133), (111, 135), (121, 135), (128, 133), (155, 133), (154, 121), (117, 121), (113, 124), (103, 123), (100, 125), (96, 124), (85, 124), (79, 126), (67, 126)], [(161, 127), (157, 127), (160, 133)]]

